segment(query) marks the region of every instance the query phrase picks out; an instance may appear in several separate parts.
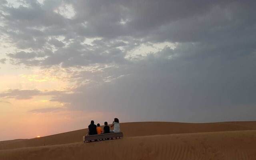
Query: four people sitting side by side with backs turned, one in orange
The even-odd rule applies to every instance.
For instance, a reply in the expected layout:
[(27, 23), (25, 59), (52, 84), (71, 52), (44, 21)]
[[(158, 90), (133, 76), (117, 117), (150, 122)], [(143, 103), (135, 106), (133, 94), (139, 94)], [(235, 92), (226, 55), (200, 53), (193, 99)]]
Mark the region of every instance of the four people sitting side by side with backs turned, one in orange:
[(110, 130), (110, 127), (108, 126), (108, 122), (104, 122), (104, 125), (105, 126), (102, 130), (99, 123), (96, 126), (94, 124), (94, 121), (91, 120), (91, 124), (88, 126), (88, 135), (121, 132), (118, 118), (114, 118), (113, 123), (110, 125), (110, 127), (114, 127), (114, 130)]

